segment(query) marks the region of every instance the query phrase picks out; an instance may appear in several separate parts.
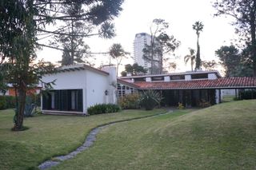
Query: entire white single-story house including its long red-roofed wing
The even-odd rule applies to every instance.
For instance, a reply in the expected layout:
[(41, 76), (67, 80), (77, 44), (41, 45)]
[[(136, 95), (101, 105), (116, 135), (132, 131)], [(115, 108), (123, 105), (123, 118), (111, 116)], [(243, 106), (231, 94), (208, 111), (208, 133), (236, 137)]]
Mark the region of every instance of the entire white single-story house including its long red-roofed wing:
[(164, 105), (198, 106), (218, 104), (223, 90), (256, 89), (256, 77), (222, 77), (218, 71), (196, 71), (116, 77), (114, 66), (95, 69), (89, 65), (64, 66), (45, 74), (42, 81), (54, 81), (53, 89), (42, 95), (43, 113), (86, 114), (88, 107), (117, 103), (129, 93), (154, 89), (162, 93)]

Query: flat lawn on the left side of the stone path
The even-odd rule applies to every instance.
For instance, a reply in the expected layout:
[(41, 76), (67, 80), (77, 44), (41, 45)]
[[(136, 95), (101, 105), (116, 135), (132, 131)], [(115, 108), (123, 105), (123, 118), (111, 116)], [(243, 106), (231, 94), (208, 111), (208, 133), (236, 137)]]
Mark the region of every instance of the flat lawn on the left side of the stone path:
[(85, 140), (91, 128), (111, 121), (125, 120), (163, 113), (163, 109), (122, 111), (91, 117), (39, 116), (25, 119), (30, 129), (11, 132), (12, 110), (0, 111), (0, 169), (27, 169), (37, 167), (51, 156), (74, 150)]

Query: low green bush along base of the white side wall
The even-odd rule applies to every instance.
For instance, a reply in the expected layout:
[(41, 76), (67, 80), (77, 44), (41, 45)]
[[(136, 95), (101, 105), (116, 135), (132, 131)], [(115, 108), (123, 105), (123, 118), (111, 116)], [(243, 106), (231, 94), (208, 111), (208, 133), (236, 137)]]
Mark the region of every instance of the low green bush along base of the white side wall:
[(94, 114), (102, 114), (102, 113), (116, 113), (120, 111), (119, 105), (114, 104), (98, 104), (94, 106), (90, 106), (87, 109), (87, 113), (90, 115)]

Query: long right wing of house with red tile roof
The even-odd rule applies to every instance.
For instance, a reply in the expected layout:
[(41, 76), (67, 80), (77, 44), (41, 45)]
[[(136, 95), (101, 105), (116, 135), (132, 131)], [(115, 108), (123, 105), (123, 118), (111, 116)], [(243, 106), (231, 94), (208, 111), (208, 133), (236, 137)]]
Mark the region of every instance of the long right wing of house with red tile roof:
[(199, 70), (119, 77), (118, 86), (123, 87), (118, 89), (118, 97), (125, 95), (123, 89), (127, 87), (136, 90), (154, 89), (162, 93), (164, 105), (177, 106), (178, 102), (186, 106), (198, 106), (202, 102), (214, 105), (222, 102), (223, 94), (231, 90), (238, 96), (239, 90), (256, 89), (256, 77), (222, 77), (216, 70)]

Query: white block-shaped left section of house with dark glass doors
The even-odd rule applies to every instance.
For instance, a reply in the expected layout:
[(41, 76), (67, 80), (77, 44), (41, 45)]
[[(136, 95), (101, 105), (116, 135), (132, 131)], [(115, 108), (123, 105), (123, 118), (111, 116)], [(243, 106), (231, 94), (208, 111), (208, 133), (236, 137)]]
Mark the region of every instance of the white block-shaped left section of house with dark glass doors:
[(45, 74), (42, 81), (54, 81), (53, 89), (42, 95), (43, 113), (85, 114), (92, 105), (117, 103), (115, 67), (69, 65)]

